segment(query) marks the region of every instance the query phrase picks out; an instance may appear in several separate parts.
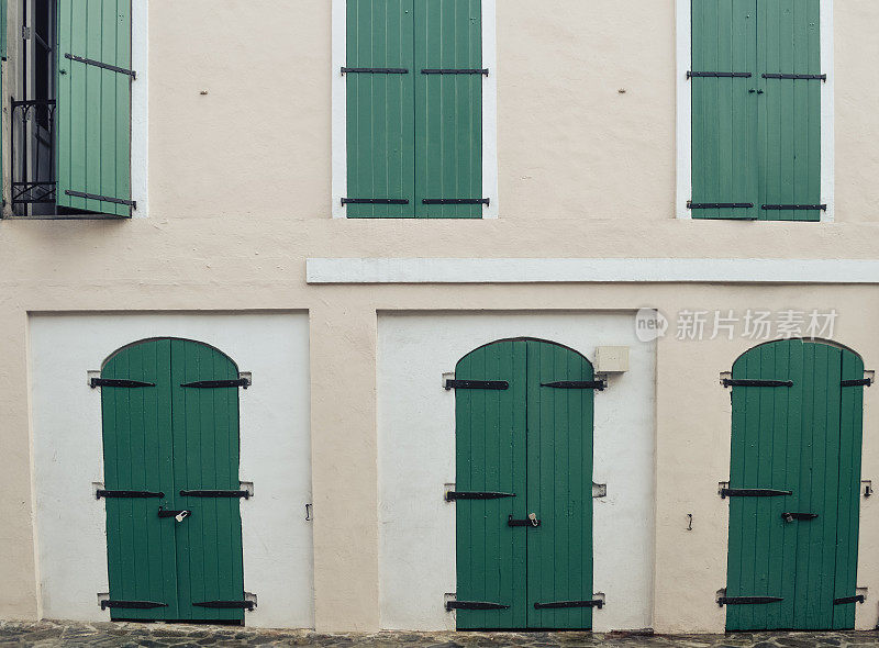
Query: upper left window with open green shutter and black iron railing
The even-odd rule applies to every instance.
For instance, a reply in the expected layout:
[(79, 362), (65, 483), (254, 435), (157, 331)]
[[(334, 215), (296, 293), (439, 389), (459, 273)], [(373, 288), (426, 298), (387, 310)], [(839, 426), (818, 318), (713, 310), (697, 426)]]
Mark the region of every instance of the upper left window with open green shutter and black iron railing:
[[(15, 0), (10, 209), (130, 216), (131, 3)], [(10, 0), (12, 4), (12, 0)]]

